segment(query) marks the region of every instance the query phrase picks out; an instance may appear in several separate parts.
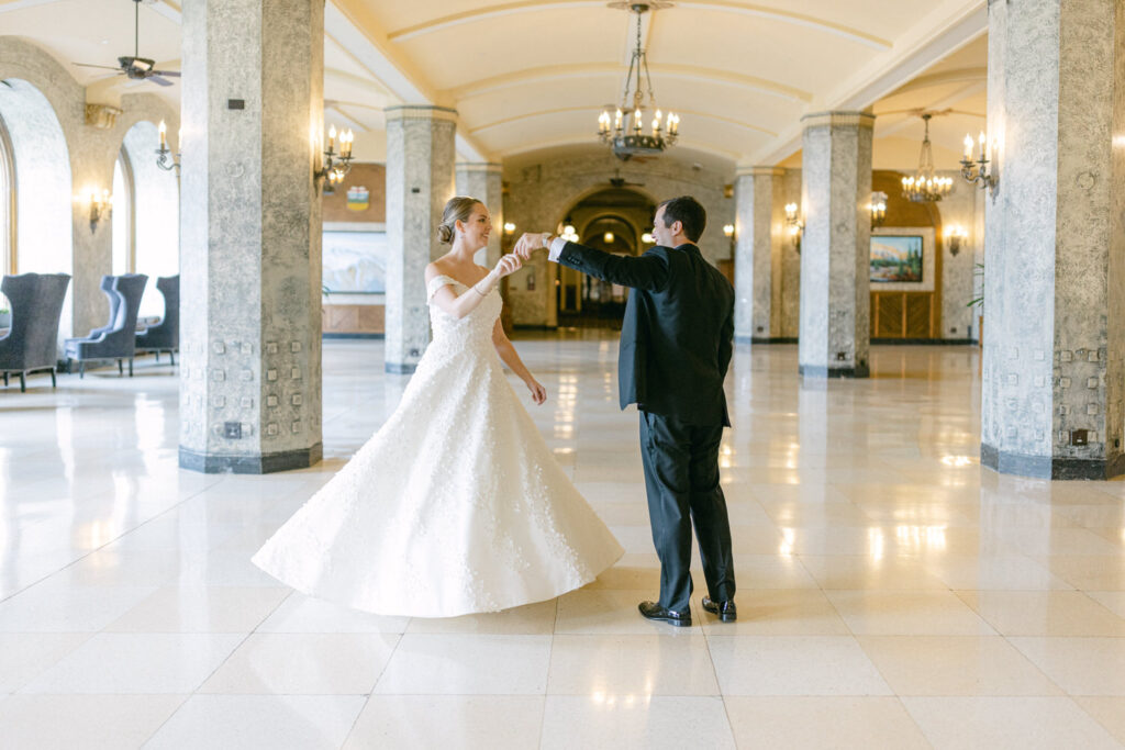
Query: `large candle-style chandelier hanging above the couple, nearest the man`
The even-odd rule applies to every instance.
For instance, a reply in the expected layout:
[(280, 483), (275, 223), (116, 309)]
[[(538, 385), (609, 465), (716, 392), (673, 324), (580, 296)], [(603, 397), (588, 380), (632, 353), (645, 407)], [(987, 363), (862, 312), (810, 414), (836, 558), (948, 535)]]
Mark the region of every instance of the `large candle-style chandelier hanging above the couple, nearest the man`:
[[(609, 109), (597, 117), (597, 135), (602, 143), (610, 146), (613, 155), (621, 161), (628, 161), (634, 155), (656, 155), (676, 142), (680, 135), (680, 116), (668, 112), (666, 116), (656, 106), (656, 94), (652, 93), (652, 79), (648, 74), (648, 56), (641, 46), (640, 20), (649, 10), (670, 7), (670, 2), (611, 2), (611, 8), (627, 9), (637, 13), (637, 46), (633, 47), (632, 60), (629, 62), (629, 73), (626, 75), (626, 88), (621, 92), (621, 106), (611, 115)], [(634, 78), (636, 73), (636, 78)], [(641, 89), (641, 76), (648, 92), (648, 107), (654, 110), (650, 127), (645, 128), (645, 90)], [(630, 88), (632, 93), (630, 94)]]

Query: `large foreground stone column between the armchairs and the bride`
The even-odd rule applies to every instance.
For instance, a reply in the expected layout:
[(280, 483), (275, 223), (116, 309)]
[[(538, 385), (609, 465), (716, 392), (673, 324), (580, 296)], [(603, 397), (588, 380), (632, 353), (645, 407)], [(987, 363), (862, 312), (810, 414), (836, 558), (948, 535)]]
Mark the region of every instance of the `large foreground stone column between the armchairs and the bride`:
[(195, 0), (182, 38), (180, 466), (308, 467), (321, 460), (324, 0)]

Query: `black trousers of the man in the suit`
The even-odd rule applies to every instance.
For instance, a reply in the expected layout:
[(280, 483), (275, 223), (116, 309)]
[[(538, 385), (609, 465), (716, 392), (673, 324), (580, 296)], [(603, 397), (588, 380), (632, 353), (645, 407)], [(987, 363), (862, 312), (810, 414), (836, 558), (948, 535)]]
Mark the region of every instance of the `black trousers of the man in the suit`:
[(652, 542), (660, 558), (660, 606), (687, 612), (692, 596), (692, 522), (708, 596), (735, 598), (727, 500), (719, 486), (722, 425), (691, 425), (640, 413), (640, 449)]

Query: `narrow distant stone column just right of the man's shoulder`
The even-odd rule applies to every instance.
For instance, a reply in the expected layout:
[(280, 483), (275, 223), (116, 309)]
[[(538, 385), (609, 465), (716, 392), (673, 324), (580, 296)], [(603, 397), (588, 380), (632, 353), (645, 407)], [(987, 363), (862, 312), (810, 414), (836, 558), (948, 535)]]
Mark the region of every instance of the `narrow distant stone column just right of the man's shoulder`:
[(785, 171), (755, 166), (739, 171), (735, 181), (738, 235), (735, 247), (735, 338), (768, 342), (781, 335), (781, 316), (775, 302), (780, 290), (784, 210), (776, 198)]

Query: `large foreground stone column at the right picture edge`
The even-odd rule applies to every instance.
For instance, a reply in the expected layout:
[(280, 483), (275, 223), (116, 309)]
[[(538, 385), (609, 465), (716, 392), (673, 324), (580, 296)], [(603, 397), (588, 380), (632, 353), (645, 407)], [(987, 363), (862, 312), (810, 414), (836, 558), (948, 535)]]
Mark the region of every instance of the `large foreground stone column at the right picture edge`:
[(981, 463), (1125, 471), (1125, 3), (990, 2)]

